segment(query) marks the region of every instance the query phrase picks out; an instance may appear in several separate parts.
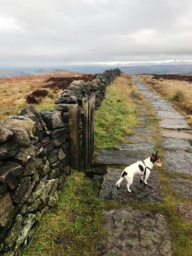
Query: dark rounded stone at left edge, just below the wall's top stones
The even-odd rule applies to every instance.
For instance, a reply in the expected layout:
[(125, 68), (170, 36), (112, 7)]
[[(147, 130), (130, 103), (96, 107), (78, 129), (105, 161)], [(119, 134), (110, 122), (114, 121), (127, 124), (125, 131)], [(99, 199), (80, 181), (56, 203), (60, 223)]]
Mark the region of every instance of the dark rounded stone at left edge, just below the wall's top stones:
[(0, 145), (0, 159), (14, 157), (18, 152), (18, 146), (12, 142)]

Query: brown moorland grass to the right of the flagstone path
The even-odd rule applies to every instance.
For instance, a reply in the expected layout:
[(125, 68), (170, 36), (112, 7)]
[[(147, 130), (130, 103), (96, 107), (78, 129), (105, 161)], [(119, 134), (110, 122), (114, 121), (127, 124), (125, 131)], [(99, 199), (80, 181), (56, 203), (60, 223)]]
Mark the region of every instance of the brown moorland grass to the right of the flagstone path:
[[(192, 83), (190, 82), (192, 76), (139, 75), (139, 77), (150, 89), (157, 91), (170, 101), (178, 111), (186, 116), (187, 121), (192, 125)], [(182, 79), (179, 80), (179, 78)]]

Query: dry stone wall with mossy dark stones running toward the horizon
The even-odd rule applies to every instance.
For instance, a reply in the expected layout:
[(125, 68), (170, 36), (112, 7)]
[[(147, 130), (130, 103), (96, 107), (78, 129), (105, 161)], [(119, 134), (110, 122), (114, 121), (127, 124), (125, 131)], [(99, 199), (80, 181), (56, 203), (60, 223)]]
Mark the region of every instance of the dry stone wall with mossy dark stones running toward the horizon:
[(106, 87), (120, 74), (119, 69), (107, 70), (91, 82), (74, 81), (53, 111), (38, 112), (31, 105), (0, 123), (0, 255), (17, 254), (65, 187), (70, 175), (69, 105), (78, 103), (81, 147), (82, 98), (94, 93), (98, 108)]

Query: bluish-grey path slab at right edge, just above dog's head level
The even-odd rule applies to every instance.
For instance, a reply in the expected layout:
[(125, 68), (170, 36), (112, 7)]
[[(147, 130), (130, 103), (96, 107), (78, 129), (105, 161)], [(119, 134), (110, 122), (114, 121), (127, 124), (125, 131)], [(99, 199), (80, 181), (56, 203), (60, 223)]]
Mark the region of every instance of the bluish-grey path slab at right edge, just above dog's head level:
[(161, 145), (165, 149), (192, 150), (192, 146), (189, 141), (184, 141), (183, 139), (164, 138)]

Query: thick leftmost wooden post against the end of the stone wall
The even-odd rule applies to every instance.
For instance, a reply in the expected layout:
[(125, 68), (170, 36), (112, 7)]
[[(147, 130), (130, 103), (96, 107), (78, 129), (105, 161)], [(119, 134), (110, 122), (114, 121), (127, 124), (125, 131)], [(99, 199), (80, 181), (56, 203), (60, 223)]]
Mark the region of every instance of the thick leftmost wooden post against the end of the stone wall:
[(69, 105), (70, 166), (78, 170), (78, 104)]

